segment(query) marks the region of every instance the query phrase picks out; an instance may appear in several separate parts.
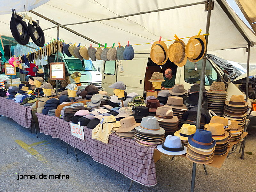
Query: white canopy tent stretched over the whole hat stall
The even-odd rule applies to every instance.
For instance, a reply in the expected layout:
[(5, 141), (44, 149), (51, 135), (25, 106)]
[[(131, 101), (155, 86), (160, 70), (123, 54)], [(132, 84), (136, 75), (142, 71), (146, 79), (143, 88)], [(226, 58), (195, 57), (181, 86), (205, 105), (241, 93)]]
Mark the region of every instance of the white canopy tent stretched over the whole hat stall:
[[(225, 0), (220, 1), (242, 29), (247, 39), (256, 42), (256, 36), (252, 30), (240, 20)], [(72, 1), (72, 3), (67, 0), (50, 0), (48, 2), (47, 0), (27, 0), (24, 2), (11, 0), (11, 2), (5, 2), (6, 5), (3, 3), (4, 6), (0, 8), (0, 14), (4, 14), (0, 18), (0, 33), (4, 36), (12, 36), (9, 27), (11, 9), (15, 8), (16, 12), (18, 12), (17, 10), (22, 10), (23, 7), (24, 10), (24, 4), (26, 11), (28, 11), (29, 6), (32, 8), (38, 6), (33, 9), (34, 12), (63, 25), (191, 4), (199, 2), (199, 0), (77, 0)], [(162, 36), (162, 40), (174, 39), (174, 34), (177, 34), (179, 38), (193, 36), (198, 33), (199, 29), (202, 29), (201, 34), (203, 34), (206, 28), (207, 17), (204, 7), (205, 4), (199, 4), (119, 19), (68, 25), (66, 27), (101, 44), (107, 43), (107, 46), (112, 46), (113, 43), (117, 46), (118, 42), (125, 46), (127, 41), (130, 44), (150, 43), (159, 40), (160, 36)], [(7, 12), (10, 14), (6, 14)], [(27, 15), (31, 16), (33, 20), (39, 20), (39, 25), (43, 30), (56, 26), (31, 12), (27, 12)], [(55, 27), (44, 30), (46, 42), (57, 37), (56, 29)], [(215, 54), (226, 60), (247, 63), (247, 53), (244, 47), (247, 47), (248, 43), (216, 1), (211, 14), (209, 34), (208, 53)], [(64, 39), (66, 43), (81, 43), (82, 46), (89, 46), (92, 43), (61, 27), (59, 37)], [(188, 39), (184, 39), (185, 43), (187, 41)], [(170, 45), (172, 42), (167, 41), (166, 44)], [(98, 46), (98, 44), (92, 43), (92, 46)], [(150, 48), (151, 44), (134, 46), (136, 53), (148, 53)], [(251, 47), (250, 52), (250, 64), (256, 64), (256, 47)]]

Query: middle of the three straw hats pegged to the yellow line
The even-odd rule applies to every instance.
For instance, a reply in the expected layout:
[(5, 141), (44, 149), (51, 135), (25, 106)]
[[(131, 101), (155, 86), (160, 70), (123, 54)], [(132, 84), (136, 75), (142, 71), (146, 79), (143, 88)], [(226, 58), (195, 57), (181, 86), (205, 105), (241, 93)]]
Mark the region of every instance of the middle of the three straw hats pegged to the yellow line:
[(182, 67), (187, 62), (187, 56), (185, 54), (185, 43), (182, 40), (176, 40), (168, 48), (168, 58), (175, 65)]

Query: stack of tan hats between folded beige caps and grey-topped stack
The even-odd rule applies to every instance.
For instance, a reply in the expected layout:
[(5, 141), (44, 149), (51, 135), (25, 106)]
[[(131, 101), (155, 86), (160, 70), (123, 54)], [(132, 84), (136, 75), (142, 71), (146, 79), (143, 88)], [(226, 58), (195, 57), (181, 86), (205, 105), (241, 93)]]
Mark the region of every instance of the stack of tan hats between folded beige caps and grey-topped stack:
[(116, 130), (116, 135), (125, 139), (134, 138), (134, 129), (140, 126), (140, 123), (136, 123), (133, 116), (125, 117), (120, 120), (120, 127)]

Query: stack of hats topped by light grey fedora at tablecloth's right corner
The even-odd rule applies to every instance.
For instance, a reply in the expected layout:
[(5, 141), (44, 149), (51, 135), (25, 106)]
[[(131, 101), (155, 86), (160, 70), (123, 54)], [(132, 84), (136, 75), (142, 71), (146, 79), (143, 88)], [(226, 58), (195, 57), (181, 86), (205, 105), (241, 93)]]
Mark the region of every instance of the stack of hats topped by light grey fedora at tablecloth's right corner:
[(141, 145), (158, 145), (164, 142), (165, 131), (155, 117), (143, 117), (135, 127), (135, 141)]

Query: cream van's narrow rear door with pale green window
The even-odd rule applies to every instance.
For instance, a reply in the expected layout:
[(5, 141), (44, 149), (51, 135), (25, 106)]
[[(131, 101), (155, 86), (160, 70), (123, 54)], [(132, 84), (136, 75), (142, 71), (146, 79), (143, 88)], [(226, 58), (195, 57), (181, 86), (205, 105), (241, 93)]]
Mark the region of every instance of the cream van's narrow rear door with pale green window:
[(113, 89), (108, 86), (116, 82), (116, 75), (116, 61), (105, 61), (103, 64), (101, 85), (109, 94), (113, 93)]

